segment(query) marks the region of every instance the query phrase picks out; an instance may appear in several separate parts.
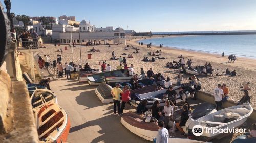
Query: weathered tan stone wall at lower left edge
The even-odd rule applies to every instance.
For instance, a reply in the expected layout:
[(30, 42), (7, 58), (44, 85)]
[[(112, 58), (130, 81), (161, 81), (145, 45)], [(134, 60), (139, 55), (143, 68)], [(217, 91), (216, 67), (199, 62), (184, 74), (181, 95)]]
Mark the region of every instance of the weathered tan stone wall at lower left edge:
[(39, 142), (24, 81), (0, 71), (0, 142)]

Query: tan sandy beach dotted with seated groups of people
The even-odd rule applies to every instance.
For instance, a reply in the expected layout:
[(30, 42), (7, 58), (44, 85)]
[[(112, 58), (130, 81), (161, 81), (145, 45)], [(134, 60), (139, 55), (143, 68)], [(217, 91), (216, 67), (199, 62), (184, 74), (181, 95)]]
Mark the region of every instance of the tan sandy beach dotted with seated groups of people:
[[(148, 37), (143, 37), (148, 38)], [(141, 61), (144, 57), (149, 57), (150, 59), (153, 56), (147, 55), (148, 52), (156, 52), (156, 50), (160, 50), (159, 47), (151, 46), (151, 49), (148, 49), (146, 45), (140, 46), (136, 41), (140, 40), (141, 37), (128, 37), (126, 40), (127, 45), (133, 45), (133, 47), (137, 47), (140, 53), (135, 54), (135, 49), (129, 47), (128, 50), (124, 50), (124, 45), (111, 45), (111, 47), (106, 47), (106, 45), (95, 45), (95, 46), (81, 46), (81, 55), (82, 55), (82, 67), (84, 68), (84, 64), (87, 62), (91, 65), (92, 68), (100, 69), (100, 63), (104, 60), (108, 64), (115, 69), (116, 66), (119, 65), (119, 62), (116, 60), (110, 60), (111, 53), (115, 51), (117, 57), (125, 56), (127, 58), (128, 54), (132, 54), (133, 58), (127, 58), (127, 64), (130, 66), (131, 64), (134, 65), (135, 73), (140, 74), (140, 68), (143, 67), (144, 71), (148, 71), (150, 68), (153, 69), (154, 73), (162, 73), (164, 77), (170, 77), (173, 83), (176, 83), (176, 78), (178, 75), (178, 69), (169, 69), (166, 68), (166, 63), (171, 61), (179, 61), (178, 56), (181, 54), (185, 57), (185, 60), (191, 58), (193, 60), (193, 65), (204, 65), (206, 62), (211, 62), (214, 70), (219, 69), (219, 73), (222, 76), (218, 78), (215, 76), (213, 77), (204, 77), (199, 76), (200, 81), (202, 82), (202, 89), (212, 91), (216, 88), (218, 83), (226, 83), (229, 88), (229, 96), (231, 99), (238, 101), (243, 96), (243, 92), (240, 89), (240, 86), (243, 84), (250, 82), (250, 87), (252, 88), (249, 90), (249, 95), (251, 96), (251, 104), (256, 108), (256, 99), (253, 95), (256, 93), (254, 88), (255, 86), (255, 74), (256, 74), (256, 60), (248, 59), (248, 58), (240, 58), (238, 57), (238, 61), (236, 63), (227, 63), (227, 57), (221, 57), (221, 55), (215, 54), (208, 54), (208, 53), (201, 53), (195, 51), (185, 51), (180, 49), (172, 49), (164, 47), (160, 57), (165, 57), (166, 59), (156, 59), (155, 62), (143, 62)], [(112, 41), (109, 43), (111, 44)], [(41, 49), (42, 52), (45, 54), (50, 55), (51, 60), (57, 59), (57, 54), (61, 54), (61, 52), (57, 52), (57, 49), (62, 49), (63, 53), (62, 56), (62, 63), (69, 63), (73, 61), (75, 64), (80, 65), (80, 50), (79, 46), (70, 48), (68, 45), (60, 45), (57, 48), (54, 48), (53, 44), (45, 44), (46, 49)], [(68, 46), (67, 50), (64, 50), (64, 47)], [(96, 50), (99, 49), (101, 52), (90, 52), (90, 49), (94, 47)], [(121, 55), (126, 53), (127, 55)], [(87, 58), (87, 54), (92, 54), (92, 59)], [(156, 57), (156, 56), (155, 56)], [(237, 76), (236, 77), (229, 77), (225, 76), (223, 72), (226, 71), (226, 68), (229, 68), (230, 71), (236, 70)], [(188, 75), (182, 74), (184, 78), (184, 82), (188, 82)]]

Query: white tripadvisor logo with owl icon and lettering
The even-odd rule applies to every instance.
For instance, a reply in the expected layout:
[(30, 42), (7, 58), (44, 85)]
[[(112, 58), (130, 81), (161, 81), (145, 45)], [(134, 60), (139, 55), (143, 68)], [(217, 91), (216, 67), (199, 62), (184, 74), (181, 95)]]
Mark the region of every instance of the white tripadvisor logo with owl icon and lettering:
[[(216, 134), (216, 133), (245, 133), (246, 129), (238, 129), (238, 128), (228, 128), (227, 126), (224, 126), (222, 128), (208, 128), (205, 127), (205, 133), (212, 133), (212, 134)], [(204, 133), (204, 129), (201, 125), (195, 125), (192, 128), (192, 133), (195, 136), (200, 136)]]

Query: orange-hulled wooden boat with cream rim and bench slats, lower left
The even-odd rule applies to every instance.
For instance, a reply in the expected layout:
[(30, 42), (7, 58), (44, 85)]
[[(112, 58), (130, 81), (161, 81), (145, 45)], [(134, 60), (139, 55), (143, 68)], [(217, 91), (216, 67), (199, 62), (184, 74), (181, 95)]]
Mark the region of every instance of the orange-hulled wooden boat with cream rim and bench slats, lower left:
[(70, 120), (65, 110), (53, 101), (35, 112), (35, 124), (40, 142), (66, 142)]

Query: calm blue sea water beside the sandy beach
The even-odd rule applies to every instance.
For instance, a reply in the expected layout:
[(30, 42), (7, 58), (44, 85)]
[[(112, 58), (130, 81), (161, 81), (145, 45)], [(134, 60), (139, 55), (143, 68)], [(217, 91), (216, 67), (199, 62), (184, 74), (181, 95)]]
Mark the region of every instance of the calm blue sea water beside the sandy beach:
[[(154, 36), (152, 36), (154, 37)], [(144, 44), (256, 59), (256, 35), (178, 36), (140, 40)], [(182, 53), (181, 53), (182, 54)]]

